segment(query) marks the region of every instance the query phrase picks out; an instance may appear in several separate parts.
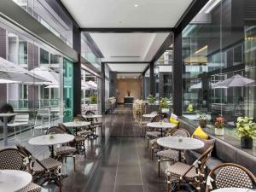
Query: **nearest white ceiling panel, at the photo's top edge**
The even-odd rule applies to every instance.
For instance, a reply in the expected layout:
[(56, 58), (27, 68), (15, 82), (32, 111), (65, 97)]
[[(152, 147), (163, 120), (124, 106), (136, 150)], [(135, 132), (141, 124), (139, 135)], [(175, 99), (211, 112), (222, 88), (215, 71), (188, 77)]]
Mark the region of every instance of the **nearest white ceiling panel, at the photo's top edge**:
[(61, 0), (80, 27), (173, 27), (193, 0)]

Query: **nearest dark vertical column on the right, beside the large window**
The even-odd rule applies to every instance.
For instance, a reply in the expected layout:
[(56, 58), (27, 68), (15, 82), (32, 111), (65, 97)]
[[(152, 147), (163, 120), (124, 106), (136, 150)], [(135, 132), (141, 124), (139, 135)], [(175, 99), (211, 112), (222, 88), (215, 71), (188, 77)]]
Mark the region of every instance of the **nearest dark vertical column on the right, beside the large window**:
[(182, 32), (174, 32), (173, 113), (183, 113), (183, 56)]

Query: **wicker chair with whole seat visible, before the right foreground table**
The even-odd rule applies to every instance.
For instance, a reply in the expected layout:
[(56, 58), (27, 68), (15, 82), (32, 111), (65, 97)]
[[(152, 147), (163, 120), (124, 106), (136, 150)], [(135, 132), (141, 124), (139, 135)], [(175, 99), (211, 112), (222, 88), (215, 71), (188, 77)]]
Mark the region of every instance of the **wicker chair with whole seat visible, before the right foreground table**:
[(167, 192), (171, 189), (171, 184), (189, 183), (195, 187), (196, 191), (201, 191), (201, 184), (205, 183), (206, 162), (211, 157), (213, 145), (195, 160), (193, 165), (177, 162), (166, 169)]

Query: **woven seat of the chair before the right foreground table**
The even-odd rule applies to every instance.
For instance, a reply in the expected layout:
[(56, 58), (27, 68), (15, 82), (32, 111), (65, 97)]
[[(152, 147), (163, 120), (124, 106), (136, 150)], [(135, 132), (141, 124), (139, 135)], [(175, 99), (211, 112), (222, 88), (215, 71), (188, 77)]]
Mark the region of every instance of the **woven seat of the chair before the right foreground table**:
[[(189, 170), (190, 166), (188, 164), (184, 164), (182, 162), (177, 162), (172, 166), (169, 166), (166, 169), (166, 175), (175, 175), (175, 176), (183, 176), (185, 172)], [(195, 167), (193, 167), (185, 176), (185, 178), (193, 178), (196, 177)]]

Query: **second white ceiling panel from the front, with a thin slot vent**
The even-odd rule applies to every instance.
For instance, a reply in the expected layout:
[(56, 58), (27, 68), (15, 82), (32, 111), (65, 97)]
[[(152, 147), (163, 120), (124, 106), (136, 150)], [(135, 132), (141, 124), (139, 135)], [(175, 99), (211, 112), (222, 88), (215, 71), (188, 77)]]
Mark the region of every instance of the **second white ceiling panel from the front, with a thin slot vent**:
[(151, 61), (169, 33), (90, 33), (102, 61)]

